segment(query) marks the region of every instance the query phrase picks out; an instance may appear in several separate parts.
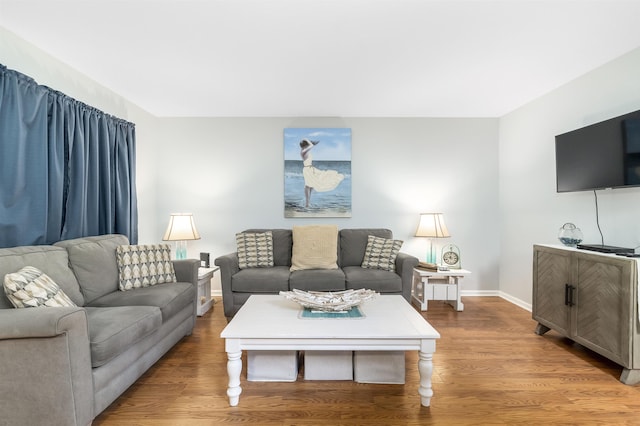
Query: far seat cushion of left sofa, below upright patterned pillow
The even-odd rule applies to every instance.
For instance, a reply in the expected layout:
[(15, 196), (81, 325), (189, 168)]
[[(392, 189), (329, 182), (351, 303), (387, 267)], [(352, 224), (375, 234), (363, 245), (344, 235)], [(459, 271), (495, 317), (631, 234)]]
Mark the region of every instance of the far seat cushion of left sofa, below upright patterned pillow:
[(92, 307), (157, 306), (162, 321), (167, 321), (189, 303), (195, 302), (196, 289), (191, 283), (156, 284), (131, 291), (114, 291), (91, 302)]

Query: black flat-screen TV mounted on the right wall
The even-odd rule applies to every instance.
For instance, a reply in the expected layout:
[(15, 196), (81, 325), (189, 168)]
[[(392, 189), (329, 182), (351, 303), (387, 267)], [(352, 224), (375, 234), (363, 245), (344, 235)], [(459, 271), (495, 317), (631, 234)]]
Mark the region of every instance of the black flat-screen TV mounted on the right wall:
[(640, 111), (556, 136), (558, 192), (640, 186)]

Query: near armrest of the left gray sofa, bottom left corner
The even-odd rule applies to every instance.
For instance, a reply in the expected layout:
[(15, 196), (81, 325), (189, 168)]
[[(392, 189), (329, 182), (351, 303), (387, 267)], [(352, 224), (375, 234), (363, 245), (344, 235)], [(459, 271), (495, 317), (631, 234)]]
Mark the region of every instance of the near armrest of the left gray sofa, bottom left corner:
[(89, 425), (93, 377), (83, 308), (0, 309), (6, 424)]

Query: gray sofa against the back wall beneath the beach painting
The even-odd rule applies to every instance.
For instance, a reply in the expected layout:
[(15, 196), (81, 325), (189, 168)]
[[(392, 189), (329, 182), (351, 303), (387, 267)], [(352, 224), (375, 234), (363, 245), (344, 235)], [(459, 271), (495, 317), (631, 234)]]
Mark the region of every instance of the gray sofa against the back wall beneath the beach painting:
[(418, 259), (398, 253), (395, 272), (365, 269), (362, 264), (367, 238), (373, 235), (393, 238), (388, 229), (341, 229), (338, 233), (339, 269), (311, 269), (291, 272), (293, 247), (290, 229), (248, 229), (243, 232), (273, 234), (274, 266), (240, 269), (238, 254), (230, 253), (216, 258), (220, 267), (224, 314), (231, 318), (252, 294), (278, 294), (293, 289), (305, 291), (339, 291), (367, 288), (381, 294), (401, 294), (407, 301), (411, 297), (413, 268)]

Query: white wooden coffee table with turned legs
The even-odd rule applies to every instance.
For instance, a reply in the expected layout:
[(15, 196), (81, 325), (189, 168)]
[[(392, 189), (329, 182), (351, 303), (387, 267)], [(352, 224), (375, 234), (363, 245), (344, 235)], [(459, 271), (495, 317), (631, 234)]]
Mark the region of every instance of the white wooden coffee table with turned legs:
[(253, 295), (227, 324), (229, 404), (240, 400), (243, 350), (419, 351), (421, 403), (433, 390), (433, 353), (440, 334), (402, 296), (377, 296), (360, 307), (362, 318), (301, 318), (301, 307), (279, 295)]

